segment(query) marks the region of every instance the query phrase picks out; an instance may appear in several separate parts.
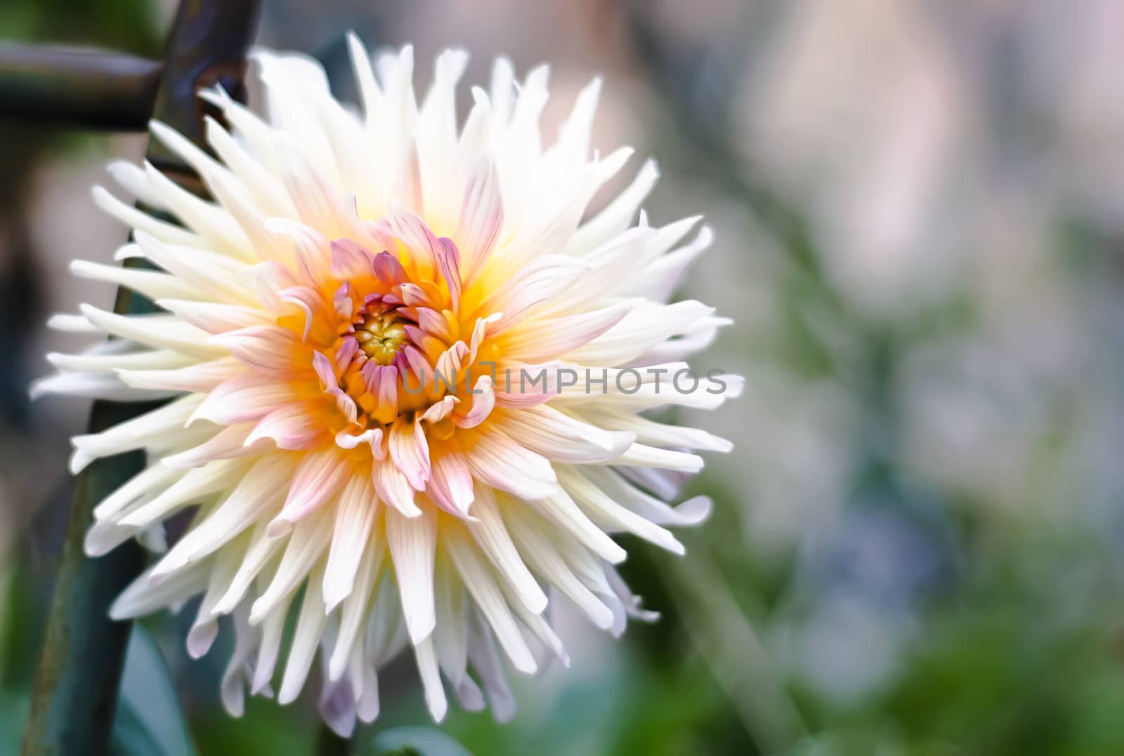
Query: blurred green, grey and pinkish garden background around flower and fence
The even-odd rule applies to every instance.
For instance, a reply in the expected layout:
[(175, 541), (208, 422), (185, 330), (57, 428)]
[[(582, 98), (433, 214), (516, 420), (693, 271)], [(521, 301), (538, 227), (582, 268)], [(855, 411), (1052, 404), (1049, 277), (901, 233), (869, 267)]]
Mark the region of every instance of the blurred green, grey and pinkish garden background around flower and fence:
[[(474, 754), (1124, 753), (1124, 3), (264, 4), (260, 40), (317, 55), (343, 97), (351, 28), (414, 42), (419, 86), (448, 45), (470, 81), (499, 53), (550, 61), (547, 135), (604, 74), (595, 144), (655, 155), (653, 221), (705, 212), (717, 236), (683, 293), (736, 325), (697, 364), (747, 388), (695, 418), (735, 450), (689, 486), (716, 507), (688, 555), (627, 544), (662, 620), (617, 643), (566, 619), (571, 668), (516, 681), (513, 722), (454, 712), (447, 735)], [(158, 54), (172, 7), (4, 0), (0, 38)], [(66, 265), (110, 259), (123, 231), (89, 186), (143, 145), (0, 122), (0, 754), (87, 411), (26, 384), (74, 346), (46, 315), (111, 301)], [(230, 720), (223, 644), (189, 664), (179, 618), (144, 626), (183, 748), (311, 753), (305, 702)], [(160, 666), (126, 675), (119, 718), (170, 692)], [(356, 753), (429, 723), (408, 659), (381, 682)]]

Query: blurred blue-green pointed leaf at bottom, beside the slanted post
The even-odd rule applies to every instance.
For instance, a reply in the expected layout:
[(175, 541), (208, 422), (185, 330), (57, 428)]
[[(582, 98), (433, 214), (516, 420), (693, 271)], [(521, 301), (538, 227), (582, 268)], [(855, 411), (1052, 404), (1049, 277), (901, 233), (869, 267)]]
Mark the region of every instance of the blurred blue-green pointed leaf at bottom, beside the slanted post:
[(164, 657), (152, 636), (133, 628), (114, 720), (116, 756), (191, 756), (194, 748)]

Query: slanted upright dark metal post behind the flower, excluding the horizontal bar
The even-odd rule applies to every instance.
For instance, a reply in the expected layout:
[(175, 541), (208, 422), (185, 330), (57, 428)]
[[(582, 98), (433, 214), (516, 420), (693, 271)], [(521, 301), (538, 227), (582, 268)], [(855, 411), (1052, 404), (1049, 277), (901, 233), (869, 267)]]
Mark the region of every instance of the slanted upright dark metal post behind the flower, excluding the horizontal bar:
[[(202, 144), (202, 108), (196, 92), (221, 83), (243, 93), (245, 56), (257, 21), (259, 0), (183, 0), (169, 36), (154, 116)], [(0, 107), (2, 110), (2, 107)], [(148, 157), (166, 166), (183, 185), (197, 189), (191, 172), (149, 143)], [(119, 313), (152, 311), (152, 302), (119, 291)], [(152, 404), (94, 402), (90, 429), (102, 430), (152, 408)], [(143, 570), (145, 557), (134, 543), (88, 559), (82, 540), (94, 505), (144, 465), (135, 452), (99, 459), (75, 485), (74, 505), (63, 543), (55, 595), (47, 616), (22, 756), (97, 756), (109, 750), (128, 622), (109, 619), (116, 595)]]

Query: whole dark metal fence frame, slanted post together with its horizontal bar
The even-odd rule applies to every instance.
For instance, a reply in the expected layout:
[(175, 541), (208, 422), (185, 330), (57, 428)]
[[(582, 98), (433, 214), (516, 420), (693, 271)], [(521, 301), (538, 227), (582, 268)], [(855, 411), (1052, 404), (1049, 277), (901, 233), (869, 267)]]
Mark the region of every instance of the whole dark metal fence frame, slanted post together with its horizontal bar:
[[(118, 130), (140, 130), (158, 118), (203, 146), (203, 102), (196, 92), (221, 84), (233, 95), (244, 95), (246, 53), (259, 10), (260, 0), (183, 0), (162, 63), (102, 51), (0, 47), (0, 116)], [(191, 170), (154, 140), (147, 158), (185, 188), (199, 190)], [(118, 313), (153, 309), (152, 302), (126, 290), (118, 291), (114, 307)], [(94, 402), (90, 431), (147, 409), (151, 404)], [(22, 756), (98, 755), (109, 749), (132, 625), (110, 620), (108, 610), (144, 568), (145, 556), (128, 543), (88, 559), (82, 540), (93, 507), (143, 464), (143, 453), (134, 452), (94, 462), (78, 477)]]

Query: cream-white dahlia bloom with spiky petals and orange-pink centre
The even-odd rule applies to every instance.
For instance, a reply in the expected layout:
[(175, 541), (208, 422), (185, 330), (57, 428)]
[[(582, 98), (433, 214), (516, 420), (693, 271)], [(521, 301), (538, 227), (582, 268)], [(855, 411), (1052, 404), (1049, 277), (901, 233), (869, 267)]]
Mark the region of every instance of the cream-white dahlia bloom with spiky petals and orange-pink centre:
[[(665, 303), (710, 234), (686, 240), (697, 218), (647, 225), (651, 163), (584, 219), (631, 155), (590, 156), (598, 81), (544, 148), (546, 67), (517, 84), (498, 61), (459, 131), (463, 53), (437, 58), (418, 104), (409, 47), (373, 67), (351, 47), (362, 112), (314, 61), (260, 52), (264, 117), (201, 94), (228, 124), (207, 122), (217, 158), (152, 125), (212, 201), (152, 165), (111, 166), (154, 213), (94, 189), (133, 233), (117, 253), (127, 265), (73, 271), (161, 312), (55, 316), (116, 338), (49, 355), (60, 372), (34, 392), (170, 399), (73, 438), (74, 472), (132, 449), (147, 458), (97, 507), (85, 547), (137, 538), (162, 554), (111, 613), (201, 595), (193, 657), (230, 618), (233, 714), (274, 677), (279, 701), (296, 699), (319, 649), (320, 709), (346, 735), (378, 714), (377, 671), (408, 647), (435, 720), (446, 684), (464, 709), (505, 719), (505, 659), (524, 673), (569, 661), (549, 604), (564, 596), (615, 635), (650, 617), (614, 568), (625, 550), (610, 534), (682, 553), (664, 526), (709, 511), (701, 498), (667, 502), (703, 466), (691, 449), (728, 443), (643, 412), (714, 408), (740, 390), (680, 362), (726, 321)], [(164, 523), (185, 510), (169, 548)]]

